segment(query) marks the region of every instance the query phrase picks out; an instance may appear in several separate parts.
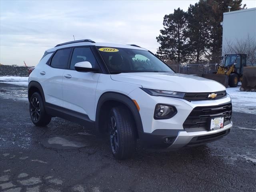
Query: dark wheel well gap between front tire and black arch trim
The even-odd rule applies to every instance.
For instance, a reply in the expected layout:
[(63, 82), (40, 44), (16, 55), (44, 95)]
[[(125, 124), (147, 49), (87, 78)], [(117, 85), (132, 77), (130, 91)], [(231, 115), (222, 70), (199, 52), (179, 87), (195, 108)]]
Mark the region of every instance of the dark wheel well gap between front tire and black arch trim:
[(132, 114), (132, 111), (126, 104), (116, 101), (116, 100), (107, 100), (102, 104), (102, 106), (100, 108), (100, 113), (99, 113), (99, 131), (100, 132), (108, 131), (108, 114), (109, 114), (111, 108), (116, 107), (116, 106), (124, 106), (125, 108), (128, 109), (128, 111), (130, 112), (130, 115), (132, 116), (132, 119), (134, 120), (136, 137), (138, 138), (139, 137), (138, 136), (139, 135), (138, 128), (136, 126), (135, 118), (134, 118), (134, 115)]

